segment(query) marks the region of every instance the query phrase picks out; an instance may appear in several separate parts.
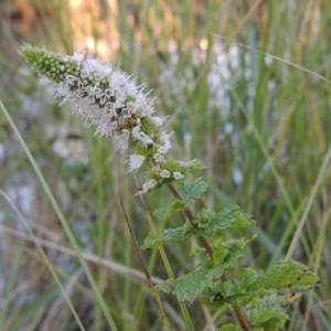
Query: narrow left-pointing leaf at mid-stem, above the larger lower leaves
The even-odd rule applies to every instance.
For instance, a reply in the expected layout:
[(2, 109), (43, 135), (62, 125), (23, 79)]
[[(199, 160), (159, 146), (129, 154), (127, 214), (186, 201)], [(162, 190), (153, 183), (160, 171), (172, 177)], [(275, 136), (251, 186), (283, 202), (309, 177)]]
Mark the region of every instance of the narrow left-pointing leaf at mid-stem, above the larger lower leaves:
[(168, 242), (183, 242), (192, 236), (192, 228), (193, 227), (191, 223), (186, 222), (183, 226), (175, 228), (167, 228), (163, 229), (160, 234), (150, 232), (143, 241), (141, 250), (143, 252), (146, 249), (156, 248)]

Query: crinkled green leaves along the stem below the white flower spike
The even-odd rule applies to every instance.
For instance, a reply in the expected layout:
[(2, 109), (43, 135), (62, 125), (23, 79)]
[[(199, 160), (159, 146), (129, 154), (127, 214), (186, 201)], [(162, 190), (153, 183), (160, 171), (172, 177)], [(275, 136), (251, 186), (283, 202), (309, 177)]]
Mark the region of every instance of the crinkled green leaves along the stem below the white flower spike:
[[(183, 180), (179, 183), (183, 200), (174, 200), (170, 206), (159, 209), (154, 214), (166, 220), (192, 205), (205, 190), (206, 184), (201, 179), (195, 182)], [(300, 297), (300, 291), (319, 285), (320, 279), (308, 267), (291, 259), (276, 260), (263, 276), (258, 276), (253, 268), (238, 268), (235, 260), (244, 257), (246, 244), (257, 235), (225, 241), (222, 234), (225, 229), (255, 225), (250, 214), (234, 205), (220, 213), (203, 209), (183, 226), (164, 229), (161, 234), (150, 233), (145, 239), (143, 250), (168, 242), (183, 242), (192, 235), (204, 239), (213, 237), (211, 256), (206, 256), (206, 247), (191, 249), (192, 254), (204, 256), (197, 269), (177, 279), (170, 278), (158, 285), (157, 289), (175, 295), (179, 301), (188, 306), (196, 298), (212, 310), (221, 309), (224, 305), (242, 305), (254, 330), (273, 331), (284, 327), (289, 319), (289, 305)], [(231, 278), (227, 274), (232, 275)], [(220, 330), (242, 329), (228, 324)]]

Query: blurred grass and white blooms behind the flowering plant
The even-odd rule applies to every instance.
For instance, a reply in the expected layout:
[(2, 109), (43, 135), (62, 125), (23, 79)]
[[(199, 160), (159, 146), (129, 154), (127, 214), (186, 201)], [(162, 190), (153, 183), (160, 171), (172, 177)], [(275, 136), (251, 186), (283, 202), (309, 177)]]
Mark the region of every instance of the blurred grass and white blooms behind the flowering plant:
[[(170, 116), (173, 156), (207, 166), (201, 173), (210, 184), (203, 205), (221, 211), (236, 203), (254, 213), (260, 237), (246, 248), (245, 266), (263, 274), (270, 261), (286, 256), (298, 223), (305, 223), (293, 258), (314, 270), (322, 285), (290, 308), (286, 330), (331, 330), (328, 160), (322, 168), (331, 142), (331, 85), (211, 34), (330, 78), (328, 0), (1, 0), (0, 15), (0, 98), (58, 201), (119, 330), (162, 330), (119, 207), (117, 167), (124, 167), (122, 160), (109, 141), (58, 106), (51, 84), (19, 57), (23, 42), (63, 53), (88, 50), (120, 63), (153, 89), (157, 111)], [(142, 244), (149, 226), (132, 194), (134, 177), (122, 178), (122, 186)], [(0, 189), (0, 330), (79, 330), (4, 194), (40, 239), (85, 329), (110, 330), (2, 113)], [(164, 188), (146, 202), (152, 212), (169, 199)], [(167, 226), (183, 221), (179, 215)], [(156, 220), (156, 226), (166, 225)], [(166, 250), (175, 276), (196, 265), (189, 244)], [(166, 279), (158, 252), (145, 257), (151, 275)], [(175, 298), (162, 300), (174, 328), (186, 330)], [(197, 302), (189, 312), (196, 330), (215, 330), (232, 320), (227, 311), (215, 313)]]

